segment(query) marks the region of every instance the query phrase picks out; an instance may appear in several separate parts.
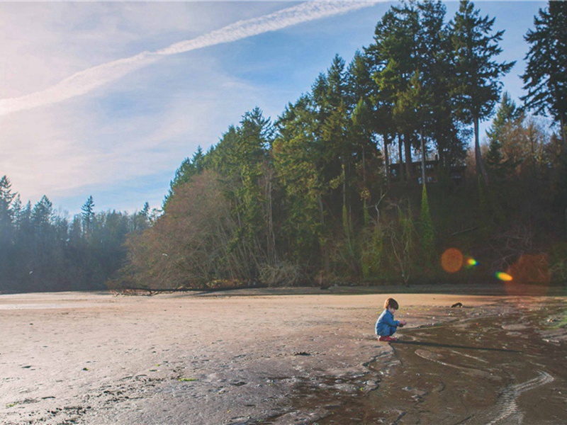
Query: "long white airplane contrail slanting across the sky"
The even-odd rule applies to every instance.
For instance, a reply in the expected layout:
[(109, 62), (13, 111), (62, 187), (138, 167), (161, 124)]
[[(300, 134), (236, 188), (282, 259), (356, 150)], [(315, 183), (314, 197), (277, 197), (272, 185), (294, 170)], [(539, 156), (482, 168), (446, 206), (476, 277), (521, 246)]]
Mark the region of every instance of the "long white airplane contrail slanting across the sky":
[(135, 56), (84, 69), (42, 91), (36, 91), (35, 93), (16, 98), (0, 99), (0, 116), (82, 96), (104, 84), (124, 77), (126, 74), (135, 71), (135, 69), (145, 67), (169, 55), (177, 55), (203, 47), (241, 40), (242, 38), (252, 37), (253, 35), (269, 31), (281, 30), (298, 23), (327, 18), (359, 8), (373, 6), (376, 3), (378, 1), (333, 1), (329, 3), (308, 1), (298, 6), (270, 13), (269, 15), (238, 21), (219, 30), (200, 35), (197, 38), (176, 42), (155, 52), (141, 52)]

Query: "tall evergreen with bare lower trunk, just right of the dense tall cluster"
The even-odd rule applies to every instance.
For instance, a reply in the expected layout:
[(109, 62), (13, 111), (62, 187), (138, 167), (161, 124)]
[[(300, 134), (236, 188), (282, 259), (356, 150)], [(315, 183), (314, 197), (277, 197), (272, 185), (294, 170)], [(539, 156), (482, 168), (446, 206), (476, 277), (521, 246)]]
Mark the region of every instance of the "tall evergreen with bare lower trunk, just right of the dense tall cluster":
[(502, 52), (498, 42), (504, 31), (493, 33), (495, 18), (481, 17), (468, 0), (461, 0), (459, 11), (450, 23), (455, 57), (454, 94), (461, 119), (473, 123), (476, 169), (488, 183), (481, 155), (478, 126), (493, 114), (502, 83), (499, 78), (512, 69), (515, 62), (496, 62)]

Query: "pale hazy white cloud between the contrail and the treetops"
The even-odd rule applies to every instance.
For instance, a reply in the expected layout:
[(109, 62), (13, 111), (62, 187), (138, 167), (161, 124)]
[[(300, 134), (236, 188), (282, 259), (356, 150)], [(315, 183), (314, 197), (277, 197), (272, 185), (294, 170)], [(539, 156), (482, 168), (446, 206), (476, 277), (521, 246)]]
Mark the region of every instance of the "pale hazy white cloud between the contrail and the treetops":
[[(112, 120), (97, 106), (99, 98), (0, 117), (2, 137), (11, 141), (2, 143), (0, 175), (9, 176), (22, 198), (33, 200), (43, 194), (78, 196), (85, 188), (102, 190), (152, 174), (168, 175), (164, 182), (169, 183), (184, 157), (198, 145), (215, 144), (230, 123), (238, 123), (245, 112), (242, 98), (249, 99), (250, 108), (260, 101), (253, 87), (208, 72), (214, 84), (199, 87), (202, 80), (196, 79), (174, 96), (158, 99), (155, 110)], [(159, 198), (166, 191), (160, 188)]]

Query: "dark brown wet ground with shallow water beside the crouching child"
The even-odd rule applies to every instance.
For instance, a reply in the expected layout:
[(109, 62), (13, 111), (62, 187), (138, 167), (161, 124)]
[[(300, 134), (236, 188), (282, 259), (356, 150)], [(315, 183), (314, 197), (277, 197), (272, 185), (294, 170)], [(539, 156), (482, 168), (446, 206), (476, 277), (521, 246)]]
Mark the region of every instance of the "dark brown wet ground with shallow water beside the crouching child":
[(330, 414), (317, 423), (567, 423), (567, 344), (549, 336), (550, 318), (564, 312), (562, 302), (510, 304), (504, 314), (403, 330), (393, 365), (369, 364), (376, 389), (335, 406), (327, 399)]

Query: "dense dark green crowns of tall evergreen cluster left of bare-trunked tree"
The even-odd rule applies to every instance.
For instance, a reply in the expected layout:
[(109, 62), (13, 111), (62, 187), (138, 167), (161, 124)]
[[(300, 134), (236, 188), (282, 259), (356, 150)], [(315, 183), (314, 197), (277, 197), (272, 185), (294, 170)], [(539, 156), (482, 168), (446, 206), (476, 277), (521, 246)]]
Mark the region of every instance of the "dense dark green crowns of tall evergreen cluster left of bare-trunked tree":
[[(376, 132), (386, 148), (398, 135), (404, 179), (413, 179), (412, 149), (425, 159), (435, 147), (441, 165), (461, 164), (466, 129), (457, 120), (454, 51), (440, 1), (409, 1), (393, 6), (376, 26), (366, 49), (376, 91)], [(423, 143), (423, 149), (420, 144)]]

